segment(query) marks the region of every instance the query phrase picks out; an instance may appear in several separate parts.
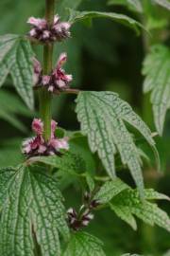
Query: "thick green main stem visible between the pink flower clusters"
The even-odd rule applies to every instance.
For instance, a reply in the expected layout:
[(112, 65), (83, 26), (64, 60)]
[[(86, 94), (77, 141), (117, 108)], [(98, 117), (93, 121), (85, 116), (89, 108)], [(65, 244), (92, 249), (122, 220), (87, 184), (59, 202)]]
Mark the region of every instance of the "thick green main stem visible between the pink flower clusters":
[[(45, 19), (48, 22), (48, 26), (53, 23), (54, 20), (54, 6), (55, 0), (46, 0), (45, 6)], [(53, 44), (43, 46), (43, 74), (49, 75), (53, 67)], [(51, 93), (42, 88), (39, 93), (40, 115), (43, 121), (43, 138), (47, 141), (51, 137)]]

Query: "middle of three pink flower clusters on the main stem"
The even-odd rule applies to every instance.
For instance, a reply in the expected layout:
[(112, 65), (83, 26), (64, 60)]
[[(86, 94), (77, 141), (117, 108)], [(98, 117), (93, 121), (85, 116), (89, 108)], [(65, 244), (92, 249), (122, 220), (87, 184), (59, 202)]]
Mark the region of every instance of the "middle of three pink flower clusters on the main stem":
[(52, 71), (51, 75), (42, 75), (41, 64), (34, 59), (34, 84), (47, 87), (50, 92), (63, 91), (69, 88), (69, 83), (72, 82), (72, 75), (67, 75), (62, 65), (67, 61), (67, 54), (61, 53), (56, 68)]

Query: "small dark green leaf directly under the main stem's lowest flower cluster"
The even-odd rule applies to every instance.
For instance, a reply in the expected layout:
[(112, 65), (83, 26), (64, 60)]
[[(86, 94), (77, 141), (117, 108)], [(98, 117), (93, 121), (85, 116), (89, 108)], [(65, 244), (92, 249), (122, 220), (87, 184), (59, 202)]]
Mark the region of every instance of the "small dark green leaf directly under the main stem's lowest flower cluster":
[(41, 162), (59, 169), (63, 173), (78, 174), (86, 172), (86, 163), (79, 156), (64, 152), (63, 155), (36, 156), (30, 162)]

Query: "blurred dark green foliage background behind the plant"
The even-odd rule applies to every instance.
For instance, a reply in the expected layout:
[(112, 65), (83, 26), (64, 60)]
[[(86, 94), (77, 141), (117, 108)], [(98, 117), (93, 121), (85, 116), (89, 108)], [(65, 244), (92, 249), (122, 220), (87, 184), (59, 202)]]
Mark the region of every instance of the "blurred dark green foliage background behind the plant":
[[(0, 34), (26, 33), (28, 29), (26, 19), (29, 16), (43, 15), (42, 2), (42, 0), (1, 0)], [(65, 7), (75, 8), (76, 5), (78, 5), (78, 1), (65, 1)], [(140, 19), (140, 16), (124, 7), (107, 5), (106, 0), (84, 0), (79, 9), (118, 11)], [(63, 9), (60, 8), (59, 12), (63, 14)], [(161, 27), (163, 24), (163, 28), (161, 28), (161, 33), (158, 31), (159, 29), (155, 29), (154, 36), (151, 38), (144, 31), (137, 36), (134, 31), (112, 23), (110, 20), (96, 19), (93, 23), (78, 23), (72, 30), (72, 38), (64, 45), (55, 48), (54, 64), (59, 52), (67, 51), (66, 70), (74, 76), (74, 87), (81, 87), (84, 90), (118, 92), (121, 98), (133, 106), (154, 132), (155, 126), (149, 98), (142, 92), (144, 77), (141, 70), (148, 42), (152, 45), (163, 40), (167, 46), (170, 46), (169, 17), (169, 13), (167, 14), (164, 9), (160, 7), (154, 9), (152, 19), (149, 21), (147, 19), (147, 26), (153, 28), (159, 21), (159, 26)], [(143, 23), (146, 23), (146, 18)], [(157, 27), (159, 26), (157, 25)], [(42, 48), (40, 47), (37, 50), (40, 58), (41, 52)], [(72, 96), (57, 97), (53, 101), (53, 115), (59, 121), (59, 126), (74, 131), (79, 126), (76, 121), (73, 100)], [(15, 165), (21, 161), (21, 142), (24, 137), (30, 135), (29, 126), (32, 117), (35, 116), (37, 113), (27, 110), (24, 103), (18, 98), (11, 87), (11, 79), (8, 77), (6, 87), (0, 91), (0, 167)], [(156, 140), (161, 155), (161, 174), (155, 172), (153, 165), (145, 163), (144, 182), (146, 187), (153, 187), (159, 192), (170, 195), (170, 112), (166, 117), (163, 137), (158, 137)], [(145, 144), (143, 144), (143, 148), (152, 159), (153, 155), (150, 155)], [(91, 155), (87, 155), (87, 157), (91, 157)], [(90, 160), (92, 161), (92, 159)], [(126, 172), (120, 172), (120, 176), (128, 183), (132, 182)], [(67, 198), (66, 205), (68, 207), (76, 206), (81, 201), (80, 195), (77, 195), (78, 186), (69, 184), (68, 180), (62, 184), (62, 188), (66, 188), (64, 192)], [(167, 202), (161, 202), (161, 208), (170, 214)], [(95, 221), (87, 230), (92, 231), (104, 242), (108, 256), (119, 256), (128, 251), (162, 256), (170, 248), (169, 233), (166, 231), (160, 228), (151, 228), (142, 222), (139, 222), (138, 231), (133, 231), (110, 210), (97, 212)]]

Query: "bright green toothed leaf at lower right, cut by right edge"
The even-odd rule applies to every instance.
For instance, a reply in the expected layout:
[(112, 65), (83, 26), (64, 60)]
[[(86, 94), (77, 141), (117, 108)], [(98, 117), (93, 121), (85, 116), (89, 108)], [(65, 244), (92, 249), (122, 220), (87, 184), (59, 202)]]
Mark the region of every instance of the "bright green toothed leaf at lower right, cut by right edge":
[(144, 201), (141, 200), (139, 192), (128, 189), (115, 196), (110, 209), (127, 222), (133, 229), (136, 229), (136, 223), (133, 215), (142, 219), (151, 226), (158, 225), (163, 229), (170, 231), (170, 218), (165, 211), (161, 210), (155, 203), (149, 200), (168, 199), (165, 195), (153, 190), (144, 191)]

